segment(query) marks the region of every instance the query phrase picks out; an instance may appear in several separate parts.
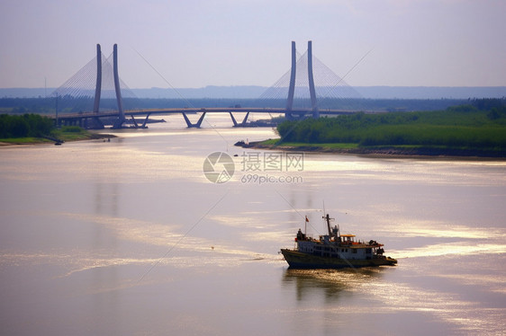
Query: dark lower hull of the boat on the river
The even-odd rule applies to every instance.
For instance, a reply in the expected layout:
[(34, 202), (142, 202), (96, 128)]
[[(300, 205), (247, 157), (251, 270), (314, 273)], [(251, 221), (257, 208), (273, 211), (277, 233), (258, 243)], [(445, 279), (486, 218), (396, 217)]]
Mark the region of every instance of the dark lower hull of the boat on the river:
[(281, 249), (285, 261), (293, 269), (344, 269), (355, 267), (395, 266), (397, 261), (390, 257), (361, 259), (340, 259), (321, 257), (294, 250)]

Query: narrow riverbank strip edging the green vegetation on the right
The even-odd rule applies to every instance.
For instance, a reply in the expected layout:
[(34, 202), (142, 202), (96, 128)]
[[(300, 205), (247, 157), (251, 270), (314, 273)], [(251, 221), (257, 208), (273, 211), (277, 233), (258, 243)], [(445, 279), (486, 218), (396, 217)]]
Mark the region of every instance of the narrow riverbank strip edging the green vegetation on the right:
[(235, 146), (243, 148), (330, 153), (340, 155), (368, 155), (375, 157), (465, 157), (479, 159), (506, 159), (506, 151), (491, 149), (471, 149), (446, 146), (358, 146), (357, 144), (303, 144), (277, 143), (277, 139), (245, 143), (239, 141)]

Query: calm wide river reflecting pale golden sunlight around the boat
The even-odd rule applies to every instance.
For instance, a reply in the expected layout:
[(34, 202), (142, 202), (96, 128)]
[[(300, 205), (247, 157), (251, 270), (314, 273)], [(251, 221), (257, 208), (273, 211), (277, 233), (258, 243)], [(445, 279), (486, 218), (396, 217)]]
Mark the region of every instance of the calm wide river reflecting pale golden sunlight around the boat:
[[(1, 334), (506, 331), (506, 162), (243, 149), (276, 135), (165, 119), (0, 148)], [(398, 266), (288, 270), (323, 209)]]

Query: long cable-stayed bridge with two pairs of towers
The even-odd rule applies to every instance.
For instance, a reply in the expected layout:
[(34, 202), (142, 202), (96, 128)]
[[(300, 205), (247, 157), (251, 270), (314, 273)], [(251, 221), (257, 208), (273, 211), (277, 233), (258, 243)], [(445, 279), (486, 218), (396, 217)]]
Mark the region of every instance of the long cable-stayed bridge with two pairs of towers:
[[(319, 118), (321, 114), (350, 114), (355, 111), (328, 106), (335, 105), (337, 101), (360, 98), (342, 78), (312, 56), (312, 41), (308, 42), (308, 49), (303, 55), (297, 52), (295, 42), (292, 42), (292, 66), (258, 98), (254, 105), (261, 107), (135, 108), (135, 103), (132, 102), (137, 97), (119, 76), (117, 45), (114, 45), (113, 53), (105, 57), (97, 44), (96, 57), (52, 95), (56, 98), (57, 125), (79, 125), (84, 128), (104, 128), (106, 125), (122, 128), (130, 121), (132, 127), (145, 128), (150, 116), (172, 113), (181, 114), (188, 128), (200, 128), (207, 113), (229, 113), (233, 125), (239, 127), (248, 126), (249, 113), (285, 114), (288, 119), (303, 119), (307, 116)], [(285, 107), (269, 107), (273, 101), (283, 101)], [(188, 118), (189, 114), (194, 113), (200, 114), (196, 122)], [(238, 122), (233, 113), (244, 116)]]

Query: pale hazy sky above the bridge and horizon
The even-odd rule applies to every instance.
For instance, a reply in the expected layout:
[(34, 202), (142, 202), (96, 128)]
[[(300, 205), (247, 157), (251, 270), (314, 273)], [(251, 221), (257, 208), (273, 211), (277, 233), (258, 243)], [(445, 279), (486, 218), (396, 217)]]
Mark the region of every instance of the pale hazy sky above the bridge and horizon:
[(96, 43), (131, 88), (270, 86), (292, 40), (340, 76), (372, 50), (355, 86), (504, 86), (505, 33), (503, 0), (0, 0), (0, 87), (58, 87)]

